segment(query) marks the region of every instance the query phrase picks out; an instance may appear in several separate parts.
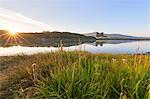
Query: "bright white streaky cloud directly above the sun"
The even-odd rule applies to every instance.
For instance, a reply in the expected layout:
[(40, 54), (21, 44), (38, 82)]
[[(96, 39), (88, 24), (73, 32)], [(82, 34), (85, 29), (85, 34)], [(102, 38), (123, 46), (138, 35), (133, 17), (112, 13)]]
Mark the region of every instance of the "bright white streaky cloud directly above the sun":
[(33, 20), (20, 13), (0, 8), (0, 29), (15, 29), (17, 32), (50, 30), (51, 26)]

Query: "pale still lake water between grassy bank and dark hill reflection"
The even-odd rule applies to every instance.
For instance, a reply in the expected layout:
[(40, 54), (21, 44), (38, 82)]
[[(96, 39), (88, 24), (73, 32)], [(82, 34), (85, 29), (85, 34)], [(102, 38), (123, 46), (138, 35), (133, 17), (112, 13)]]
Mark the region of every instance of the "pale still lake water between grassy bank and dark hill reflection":
[[(57, 51), (58, 47), (0, 47), (0, 56), (35, 54), (39, 52)], [(76, 46), (64, 47), (66, 51), (83, 50), (92, 53), (146, 53), (150, 52), (150, 41), (109, 41), (94, 42), (91, 44), (81, 44)]]

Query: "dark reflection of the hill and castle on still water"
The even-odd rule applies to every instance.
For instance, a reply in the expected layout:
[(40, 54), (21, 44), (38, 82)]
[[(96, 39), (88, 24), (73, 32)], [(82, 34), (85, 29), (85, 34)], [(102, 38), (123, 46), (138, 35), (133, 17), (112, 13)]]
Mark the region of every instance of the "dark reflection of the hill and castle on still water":
[[(137, 40), (98, 40), (95, 42), (95, 40), (88, 40), (88, 39), (52, 39), (52, 40), (39, 40), (36, 42), (21, 42), (18, 45), (20, 46), (30, 46), (30, 47), (69, 47), (69, 46), (78, 46), (81, 44), (91, 44), (93, 46), (104, 46), (104, 44), (120, 44), (120, 43), (129, 43), (129, 42), (135, 42)], [(0, 46), (3, 46), (3, 44), (0, 43)], [(8, 46), (14, 46), (14, 44), (10, 43)], [(16, 45), (15, 45), (16, 46)]]

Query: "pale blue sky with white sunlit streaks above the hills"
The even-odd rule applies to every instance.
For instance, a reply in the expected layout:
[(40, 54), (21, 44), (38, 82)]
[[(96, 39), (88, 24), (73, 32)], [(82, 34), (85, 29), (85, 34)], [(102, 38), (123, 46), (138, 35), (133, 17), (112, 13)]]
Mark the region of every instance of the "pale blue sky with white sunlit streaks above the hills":
[(150, 36), (149, 0), (0, 0), (0, 29)]

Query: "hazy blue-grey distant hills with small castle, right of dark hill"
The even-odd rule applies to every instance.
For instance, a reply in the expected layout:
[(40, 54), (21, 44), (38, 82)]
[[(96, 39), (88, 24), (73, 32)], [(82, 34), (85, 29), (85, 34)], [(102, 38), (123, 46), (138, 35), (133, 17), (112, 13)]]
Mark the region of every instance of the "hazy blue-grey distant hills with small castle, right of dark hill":
[(87, 33), (85, 36), (95, 37), (100, 40), (150, 40), (150, 37), (135, 37), (122, 34), (105, 34), (99, 32)]

